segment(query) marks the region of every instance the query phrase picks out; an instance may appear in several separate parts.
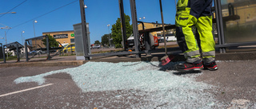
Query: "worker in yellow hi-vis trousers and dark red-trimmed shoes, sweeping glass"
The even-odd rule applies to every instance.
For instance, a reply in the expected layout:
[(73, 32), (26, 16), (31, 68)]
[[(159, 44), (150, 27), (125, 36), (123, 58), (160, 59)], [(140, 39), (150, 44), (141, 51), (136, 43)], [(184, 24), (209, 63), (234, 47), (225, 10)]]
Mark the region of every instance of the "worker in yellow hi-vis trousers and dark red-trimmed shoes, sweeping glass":
[[(186, 57), (185, 64), (176, 66), (178, 71), (218, 69), (212, 33), (212, 2), (212, 0), (178, 0), (175, 17), (176, 35), (178, 45)], [(194, 25), (198, 30), (198, 41), (191, 29)]]

